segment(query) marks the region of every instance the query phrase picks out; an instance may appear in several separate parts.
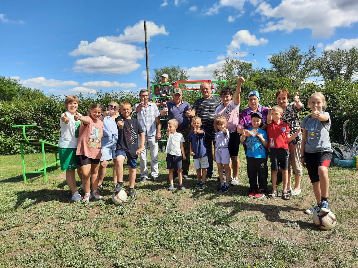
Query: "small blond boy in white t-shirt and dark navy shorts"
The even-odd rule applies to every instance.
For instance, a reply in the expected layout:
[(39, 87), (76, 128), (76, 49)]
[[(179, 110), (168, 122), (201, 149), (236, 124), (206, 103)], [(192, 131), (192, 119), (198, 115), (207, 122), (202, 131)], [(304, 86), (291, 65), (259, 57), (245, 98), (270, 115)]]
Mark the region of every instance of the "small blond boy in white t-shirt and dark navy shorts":
[[(186, 159), (183, 142), (183, 134), (176, 132), (179, 122), (176, 119), (168, 121), (168, 128), (166, 129), (166, 169), (169, 170), (169, 188), (171, 191), (174, 189), (173, 174), (174, 168), (178, 172), (179, 189), (185, 190), (183, 186), (183, 172), (182, 172), (182, 159)], [(183, 155), (183, 157), (182, 157)]]

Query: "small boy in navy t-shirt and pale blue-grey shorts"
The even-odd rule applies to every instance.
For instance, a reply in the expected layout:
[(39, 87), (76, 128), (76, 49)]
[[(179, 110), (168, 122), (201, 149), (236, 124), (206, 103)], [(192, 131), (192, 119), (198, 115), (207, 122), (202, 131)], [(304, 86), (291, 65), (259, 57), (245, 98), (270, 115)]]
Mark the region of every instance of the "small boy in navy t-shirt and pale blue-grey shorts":
[[(202, 121), (199, 116), (192, 119), (193, 131), (189, 132), (190, 155), (194, 159), (194, 168), (197, 170), (198, 182), (195, 189), (204, 190), (206, 185), (206, 168), (209, 167), (208, 154), (205, 148), (205, 131), (200, 129)], [(203, 174), (202, 174), (203, 173)]]

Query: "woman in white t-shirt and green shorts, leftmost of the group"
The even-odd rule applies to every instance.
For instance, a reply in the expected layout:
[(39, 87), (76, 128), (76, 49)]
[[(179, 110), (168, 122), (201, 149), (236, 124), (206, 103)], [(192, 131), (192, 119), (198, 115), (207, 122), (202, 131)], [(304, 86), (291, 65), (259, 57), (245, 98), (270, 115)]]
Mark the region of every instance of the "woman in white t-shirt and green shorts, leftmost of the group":
[[(60, 130), (61, 135), (58, 142), (58, 156), (60, 159), (61, 170), (66, 170), (66, 182), (72, 192), (72, 200), (82, 200), (81, 195), (76, 190), (76, 175), (77, 169), (77, 140), (79, 134), (80, 113), (77, 113), (79, 100), (77, 96), (69, 95), (65, 99), (66, 112), (61, 114)], [(78, 170), (78, 176), (81, 178), (81, 172)]]

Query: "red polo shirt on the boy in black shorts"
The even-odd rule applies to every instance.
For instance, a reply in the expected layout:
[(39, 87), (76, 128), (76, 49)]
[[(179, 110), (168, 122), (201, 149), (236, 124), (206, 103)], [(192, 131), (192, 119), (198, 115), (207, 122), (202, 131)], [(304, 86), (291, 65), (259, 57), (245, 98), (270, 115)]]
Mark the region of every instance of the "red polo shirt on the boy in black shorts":
[(273, 120), (270, 125), (267, 125), (267, 136), (269, 137), (270, 148), (284, 148), (289, 149), (289, 142), (286, 138), (286, 133), (290, 133), (290, 127), (284, 121), (280, 120), (277, 124)]

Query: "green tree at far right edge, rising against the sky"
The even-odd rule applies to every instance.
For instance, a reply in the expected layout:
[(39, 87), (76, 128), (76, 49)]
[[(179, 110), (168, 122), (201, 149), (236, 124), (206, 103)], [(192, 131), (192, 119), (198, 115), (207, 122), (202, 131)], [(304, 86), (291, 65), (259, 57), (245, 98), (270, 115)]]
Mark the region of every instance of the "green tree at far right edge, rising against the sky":
[(349, 50), (323, 50), (322, 56), (316, 59), (316, 69), (326, 80), (350, 81), (358, 71), (358, 50), (355, 46)]

